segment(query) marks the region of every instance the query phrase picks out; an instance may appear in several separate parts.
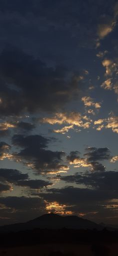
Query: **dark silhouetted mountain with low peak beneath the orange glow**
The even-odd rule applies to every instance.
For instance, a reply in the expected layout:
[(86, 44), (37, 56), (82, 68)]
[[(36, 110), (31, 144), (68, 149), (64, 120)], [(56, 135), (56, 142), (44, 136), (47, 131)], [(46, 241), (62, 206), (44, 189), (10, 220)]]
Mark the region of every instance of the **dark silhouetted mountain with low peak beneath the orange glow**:
[(48, 229), (94, 229), (102, 230), (102, 225), (96, 224), (90, 220), (77, 216), (67, 215), (60, 216), (54, 213), (44, 214), (25, 223), (16, 223), (11, 225), (0, 226), (1, 232), (16, 232), (22, 230), (32, 230), (34, 228)]

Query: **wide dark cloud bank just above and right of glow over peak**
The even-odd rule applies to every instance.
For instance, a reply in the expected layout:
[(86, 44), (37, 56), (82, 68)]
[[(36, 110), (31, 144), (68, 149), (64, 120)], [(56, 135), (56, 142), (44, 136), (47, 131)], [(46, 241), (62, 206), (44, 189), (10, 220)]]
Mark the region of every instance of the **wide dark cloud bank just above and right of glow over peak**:
[[(107, 205), (108, 201), (117, 199), (118, 193), (115, 190), (99, 190), (88, 188), (64, 187), (48, 189), (48, 193), (40, 193), (40, 196), (47, 202), (58, 202), (59, 204), (74, 206), (77, 211), (89, 212)], [(104, 208), (104, 207), (103, 207)]]

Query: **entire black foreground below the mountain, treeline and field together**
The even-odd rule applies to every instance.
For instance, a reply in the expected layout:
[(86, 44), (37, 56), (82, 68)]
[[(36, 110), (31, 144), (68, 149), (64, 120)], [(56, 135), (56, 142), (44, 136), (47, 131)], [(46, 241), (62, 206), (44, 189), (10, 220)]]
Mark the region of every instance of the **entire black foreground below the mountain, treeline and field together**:
[(118, 231), (63, 228), (0, 233), (0, 255), (118, 256)]

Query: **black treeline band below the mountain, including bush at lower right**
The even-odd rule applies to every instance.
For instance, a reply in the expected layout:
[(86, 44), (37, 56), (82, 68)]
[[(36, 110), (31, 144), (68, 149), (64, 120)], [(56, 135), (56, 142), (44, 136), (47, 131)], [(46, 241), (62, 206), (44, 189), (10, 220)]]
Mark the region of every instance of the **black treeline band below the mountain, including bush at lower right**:
[[(1, 246), (24, 246), (44, 243), (91, 244), (92, 251), (99, 250), (108, 255), (107, 249), (98, 247), (100, 243), (118, 242), (118, 231), (76, 230), (76, 229), (34, 229), (20, 232), (0, 233)], [(106, 252), (105, 252), (106, 251)], [(100, 254), (100, 255), (102, 255)], [(99, 255), (99, 254), (94, 254)]]

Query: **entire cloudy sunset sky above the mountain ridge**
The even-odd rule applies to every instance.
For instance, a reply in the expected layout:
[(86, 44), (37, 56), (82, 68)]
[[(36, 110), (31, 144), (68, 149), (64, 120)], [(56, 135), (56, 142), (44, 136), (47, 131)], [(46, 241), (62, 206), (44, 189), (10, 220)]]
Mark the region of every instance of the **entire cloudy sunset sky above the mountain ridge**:
[(118, 224), (118, 2), (0, 0), (0, 225)]

